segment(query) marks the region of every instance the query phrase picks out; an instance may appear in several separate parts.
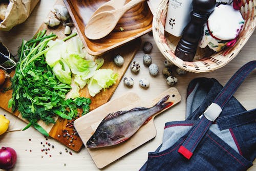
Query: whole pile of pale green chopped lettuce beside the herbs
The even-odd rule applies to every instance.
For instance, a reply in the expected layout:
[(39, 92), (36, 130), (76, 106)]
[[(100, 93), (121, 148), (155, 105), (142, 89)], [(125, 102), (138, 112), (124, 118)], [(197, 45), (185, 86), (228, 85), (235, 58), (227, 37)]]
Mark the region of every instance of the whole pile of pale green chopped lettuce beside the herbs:
[(86, 84), (88, 84), (90, 95), (95, 96), (101, 89), (105, 91), (105, 88), (109, 88), (116, 82), (118, 74), (114, 74), (111, 69), (99, 69), (104, 59), (97, 58), (95, 62), (84, 59), (86, 53), (78, 37), (73, 37), (67, 42), (51, 40), (47, 45), (50, 50), (46, 53), (46, 62), (60, 82), (72, 84), (70, 98), (79, 97), (79, 90)]

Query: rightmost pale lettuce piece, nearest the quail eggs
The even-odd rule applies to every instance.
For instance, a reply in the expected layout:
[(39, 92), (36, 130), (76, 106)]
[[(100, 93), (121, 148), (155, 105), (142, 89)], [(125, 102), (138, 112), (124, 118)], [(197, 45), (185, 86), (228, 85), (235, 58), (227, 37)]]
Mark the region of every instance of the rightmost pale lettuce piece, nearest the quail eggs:
[(111, 69), (96, 70), (93, 77), (90, 78), (88, 89), (91, 96), (95, 96), (101, 89), (109, 88), (118, 78), (118, 74), (114, 74)]

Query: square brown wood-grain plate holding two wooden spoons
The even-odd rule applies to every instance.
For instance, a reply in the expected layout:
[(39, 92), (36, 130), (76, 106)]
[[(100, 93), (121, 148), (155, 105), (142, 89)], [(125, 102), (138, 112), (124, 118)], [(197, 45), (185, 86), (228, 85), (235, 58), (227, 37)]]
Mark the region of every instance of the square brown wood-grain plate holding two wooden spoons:
[[(91, 55), (99, 56), (152, 30), (153, 15), (147, 3), (144, 2), (127, 11), (108, 36), (98, 40), (90, 40), (84, 35), (84, 27), (93, 12), (108, 0), (63, 0), (63, 2), (69, 10), (79, 36), (83, 38), (82, 41), (86, 50)], [(123, 31), (120, 28), (123, 28)]]

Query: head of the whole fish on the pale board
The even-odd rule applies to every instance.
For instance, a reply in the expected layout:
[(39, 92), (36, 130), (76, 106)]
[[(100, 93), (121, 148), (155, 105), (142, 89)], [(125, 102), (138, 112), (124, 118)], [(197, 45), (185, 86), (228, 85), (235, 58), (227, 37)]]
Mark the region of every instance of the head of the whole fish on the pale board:
[(108, 133), (106, 132), (96, 132), (87, 141), (86, 145), (88, 148), (98, 148), (103, 146), (112, 145), (112, 141), (108, 138)]

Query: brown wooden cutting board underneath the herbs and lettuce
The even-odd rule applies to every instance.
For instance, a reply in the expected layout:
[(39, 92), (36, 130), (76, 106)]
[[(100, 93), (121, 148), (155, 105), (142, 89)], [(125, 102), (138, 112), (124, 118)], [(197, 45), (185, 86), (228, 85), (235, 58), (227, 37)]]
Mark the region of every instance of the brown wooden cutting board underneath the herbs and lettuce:
[[(56, 4), (65, 5), (65, 4), (63, 4), (63, 2), (61, 0), (58, 0), (56, 2)], [(49, 16), (50, 15), (52, 16), (53, 14), (50, 13)], [(39, 27), (38, 31), (43, 30), (43, 29), (47, 30), (47, 34), (50, 34), (51, 32), (53, 32), (54, 34), (56, 34), (58, 36), (59, 39), (66, 37), (66, 35), (64, 35), (64, 33), (63, 33), (65, 30), (65, 27), (63, 27), (62, 24), (60, 24), (57, 28), (53, 28), (53, 29), (48, 28), (45, 24), (42, 24)], [(74, 27), (72, 29), (73, 29), (72, 33), (77, 32)], [(119, 77), (118, 77), (116, 83), (112, 87), (110, 87), (109, 89), (106, 89), (105, 91), (102, 90), (100, 93), (98, 93), (94, 97), (90, 96), (87, 87), (84, 88), (83, 90), (80, 90), (80, 95), (82, 97), (88, 97), (88, 98), (91, 98), (91, 100), (92, 100), (92, 103), (90, 105), (90, 111), (98, 108), (98, 106), (100, 106), (110, 100), (110, 98), (113, 95), (114, 91), (116, 90), (119, 82), (121, 81), (122, 76), (126, 72), (127, 68), (130, 67), (130, 63), (133, 60), (138, 48), (140, 47), (140, 44), (141, 44), (141, 39), (140, 38), (135, 39), (135, 40), (129, 42), (128, 44), (126, 44), (118, 49), (115, 49), (115, 51), (111, 51), (111, 52), (101, 56), (102, 58), (104, 58), (104, 64), (103, 64), (102, 68), (112, 69), (114, 71), (114, 73), (119, 74)], [(114, 64), (113, 58), (114, 58), (115, 54), (120, 54), (123, 56), (124, 64), (122, 67), (118, 67)], [(13, 75), (14, 75), (14, 72), (11, 73), (11, 76), (13, 76)], [(12, 90), (3, 92), (4, 89), (6, 89), (10, 86), (11, 86), (11, 82), (9, 79), (5, 82), (5, 84), (2, 87), (0, 87), (0, 107), (11, 113), (11, 109), (8, 109), (8, 101), (12, 97)], [(20, 113), (18, 111), (14, 112), (13, 115), (22, 119), (22, 116), (20, 115)], [(24, 121), (27, 122), (26, 120), (24, 120)], [(65, 144), (66, 146), (68, 146), (69, 148), (73, 149), (76, 152), (80, 151), (83, 144), (82, 144), (81, 139), (77, 135), (74, 136), (72, 143), (70, 142), (70, 139), (67, 139), (67, 137), (62, 136), (63, 131), (65, 129), (67, 131), (69, 131), (70, 133), (72, 132), (73, 128), (72, 127), (70, 128), (69, 126), (67, 126), (68, 120), (57, 118), (55, 124), (46, 125), (42, 121), (38, 121), (38, 123), (49, 133), (50, 137)], [(72, 145), (72, 144), (74, 144), (74, 145)]]

